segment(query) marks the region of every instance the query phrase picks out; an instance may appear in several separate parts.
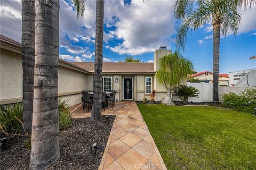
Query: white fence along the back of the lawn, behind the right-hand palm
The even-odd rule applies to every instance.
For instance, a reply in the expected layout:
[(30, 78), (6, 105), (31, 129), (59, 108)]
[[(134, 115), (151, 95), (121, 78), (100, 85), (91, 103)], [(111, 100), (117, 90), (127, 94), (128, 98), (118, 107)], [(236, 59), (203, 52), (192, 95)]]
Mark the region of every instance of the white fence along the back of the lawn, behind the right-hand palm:
[[(190, 83), (188, 82), (188, 86), (193, 86), (199, 90), (200, 94), (199, 97), (189, 97), (188, 101), (193, 102), (212, 102), (213, 101), (213, 84), (212, 83)], [(256, 87), (226, 87), (226, 86), (219, 86), (219, 100), (221, 101), (222, 94), (228, 94), (229, 92), (234, 92), (235, 94), (239, 95), (241, 91), (244, 91), (246, 88), (256, 88)]]

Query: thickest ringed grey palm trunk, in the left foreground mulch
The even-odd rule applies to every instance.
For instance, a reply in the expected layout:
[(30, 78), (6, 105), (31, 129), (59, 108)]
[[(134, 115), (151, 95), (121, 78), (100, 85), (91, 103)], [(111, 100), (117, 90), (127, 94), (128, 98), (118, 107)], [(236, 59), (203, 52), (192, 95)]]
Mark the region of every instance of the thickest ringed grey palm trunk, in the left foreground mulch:
[(30, 169), (45, 169), (60, 156), (59, 1), (37, 0), (35, 8), (35, 84)]

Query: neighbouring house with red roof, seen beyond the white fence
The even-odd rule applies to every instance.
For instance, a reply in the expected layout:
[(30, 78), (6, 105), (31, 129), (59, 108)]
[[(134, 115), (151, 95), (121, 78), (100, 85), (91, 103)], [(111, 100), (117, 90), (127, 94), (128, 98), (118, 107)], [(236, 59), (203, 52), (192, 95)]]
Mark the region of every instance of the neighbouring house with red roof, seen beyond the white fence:
[[(188, 77), (190, 79), (198, 79), (200, 81), (210, 81), (213, 82), (213, 73), (210, 71), (203, 71)], [(219, 85), (228, 85), (229, 77), (228, 74), (219, 74)]]

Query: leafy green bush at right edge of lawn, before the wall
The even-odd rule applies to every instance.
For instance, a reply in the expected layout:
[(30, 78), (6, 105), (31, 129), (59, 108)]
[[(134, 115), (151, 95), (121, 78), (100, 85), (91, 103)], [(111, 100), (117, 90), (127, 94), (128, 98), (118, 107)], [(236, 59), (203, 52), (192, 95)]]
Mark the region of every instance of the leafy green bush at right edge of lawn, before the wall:
[(230, 92), (223, 94), (223, 106), (233, 108), (237, 111), (255, 113), (256, 108), (256, 89), (247, 88), (239, 95)]

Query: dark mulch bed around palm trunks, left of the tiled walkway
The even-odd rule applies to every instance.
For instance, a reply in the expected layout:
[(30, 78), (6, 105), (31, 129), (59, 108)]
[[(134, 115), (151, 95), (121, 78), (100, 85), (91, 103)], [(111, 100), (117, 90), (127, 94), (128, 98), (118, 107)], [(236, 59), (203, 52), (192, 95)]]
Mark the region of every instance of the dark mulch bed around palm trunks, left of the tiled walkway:
[[(60, 131), (60, 157), (47, 169), (98, 169), (103, 151), (94, 150), (89, 146), (97, 142), (105, 147), (111, 131), (115, 115), (111, 115), (110, 123), (91, 122), (90, 118), (76, 119), (67, 130)], [(1, 169), (29, 169), (30, 149), (25, 142), (28, 137), (7, 139), (5, 148), (1, 147)]]

